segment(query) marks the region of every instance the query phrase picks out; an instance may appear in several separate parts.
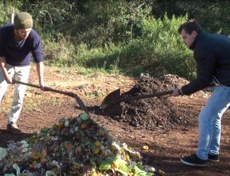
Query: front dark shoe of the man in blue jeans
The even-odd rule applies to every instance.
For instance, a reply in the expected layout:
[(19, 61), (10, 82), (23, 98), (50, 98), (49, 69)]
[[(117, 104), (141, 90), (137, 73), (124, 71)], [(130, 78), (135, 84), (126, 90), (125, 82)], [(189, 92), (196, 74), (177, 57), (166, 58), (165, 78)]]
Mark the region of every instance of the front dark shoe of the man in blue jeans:
[(186, 164), (189, 166), (199, 166), (199, 167), (208, 166), (208, 160), (202, 160), (196, 154), (181, 158), (180, 161), (183, 164)]

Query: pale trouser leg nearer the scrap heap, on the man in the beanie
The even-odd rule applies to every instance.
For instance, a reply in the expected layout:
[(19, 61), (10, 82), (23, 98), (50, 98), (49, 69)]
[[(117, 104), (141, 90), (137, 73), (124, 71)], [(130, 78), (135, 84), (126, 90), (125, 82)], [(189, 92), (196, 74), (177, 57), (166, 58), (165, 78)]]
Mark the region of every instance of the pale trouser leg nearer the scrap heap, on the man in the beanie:
[[(28, 82), (30, 73), (30, 66), (15, 67), (15, 79), (22, 82)], [(19, 119), (23, 100), (26, 92), (26, 86), (22, 84), (14, 85), (14, 98), (11, 105), (8, 124), (15, 124)]]

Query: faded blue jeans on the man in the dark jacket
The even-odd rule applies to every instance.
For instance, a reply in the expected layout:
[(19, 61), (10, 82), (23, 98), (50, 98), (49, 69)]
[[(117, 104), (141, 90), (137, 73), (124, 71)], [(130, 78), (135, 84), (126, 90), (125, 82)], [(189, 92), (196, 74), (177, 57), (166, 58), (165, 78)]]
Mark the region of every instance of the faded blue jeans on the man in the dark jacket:
[(199, 142), (197, 156), (207, 160), (208, 154), (219, 154), (221, 118), (230, 106), (230, 87), (216, 86), (199, 114)]

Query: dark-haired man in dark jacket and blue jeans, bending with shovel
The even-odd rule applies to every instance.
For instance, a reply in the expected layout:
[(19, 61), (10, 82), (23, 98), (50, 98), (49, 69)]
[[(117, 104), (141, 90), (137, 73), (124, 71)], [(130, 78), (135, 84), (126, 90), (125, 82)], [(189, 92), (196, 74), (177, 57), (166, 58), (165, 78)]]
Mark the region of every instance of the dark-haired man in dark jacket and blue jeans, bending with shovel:
[(212, 95), (199, 113), (199, 139), (195, 154), (181, 158), (189, 166), (207, 166), (219, 161), (221, 118), (230, 106), (230, 39), (205, 32), (196, 19), (178, 28), (184, 44), (193, 50), (197, 77), (172, 96), (190, 95), (215, 83)]

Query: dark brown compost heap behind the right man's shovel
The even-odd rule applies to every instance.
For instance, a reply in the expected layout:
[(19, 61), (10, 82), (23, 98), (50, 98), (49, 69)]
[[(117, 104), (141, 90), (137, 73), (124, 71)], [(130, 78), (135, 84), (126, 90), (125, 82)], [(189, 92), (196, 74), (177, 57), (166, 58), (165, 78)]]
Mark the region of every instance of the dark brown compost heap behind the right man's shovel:
[[(188, 81), (176, 75), (165, 75), (160, 78), (142, 76), (123, 96), (154, 94), (180, 88)], [(121, 103), (121, 113), (112, 118), (136, 128), (154, 130), (156, 128), (171, 129), (186, 124), (191, 119), (191, 112), (183, 111), (174, 105), (168, 96), (132, 100)]]

